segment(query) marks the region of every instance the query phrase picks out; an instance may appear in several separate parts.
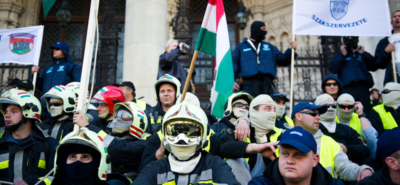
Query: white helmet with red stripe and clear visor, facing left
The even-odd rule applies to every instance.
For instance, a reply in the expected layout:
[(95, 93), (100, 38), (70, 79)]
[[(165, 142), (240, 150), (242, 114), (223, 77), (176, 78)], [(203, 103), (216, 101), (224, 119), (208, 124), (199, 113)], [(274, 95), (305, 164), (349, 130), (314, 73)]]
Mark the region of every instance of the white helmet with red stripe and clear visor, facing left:
[(129, 133), (137, 138), (147, 127), (147, 116), (139, 105), (132, 101), (119, 102), (114, 105), (114, 119), (108, 124), (110, 128), (127, 127)]

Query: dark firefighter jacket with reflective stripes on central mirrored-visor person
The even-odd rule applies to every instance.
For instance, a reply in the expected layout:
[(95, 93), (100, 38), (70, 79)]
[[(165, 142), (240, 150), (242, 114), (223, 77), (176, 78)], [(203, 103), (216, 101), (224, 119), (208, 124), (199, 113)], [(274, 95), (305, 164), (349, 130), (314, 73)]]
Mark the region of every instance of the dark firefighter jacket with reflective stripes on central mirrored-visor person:
[(137, 175), (132, 184), (228, 184), (239, 185), (229, 165), (218, 156), (201, 152), (193, 171), (181, 174), (171, 171), (168, 157), (152, 161)]

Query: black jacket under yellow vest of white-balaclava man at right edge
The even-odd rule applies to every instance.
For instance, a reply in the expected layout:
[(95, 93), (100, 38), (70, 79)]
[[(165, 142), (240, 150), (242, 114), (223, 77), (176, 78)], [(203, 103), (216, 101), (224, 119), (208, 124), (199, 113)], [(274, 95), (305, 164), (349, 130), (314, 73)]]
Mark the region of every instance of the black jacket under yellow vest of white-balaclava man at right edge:
[[(394, 109), (392, 107), (384, 106), (384, 109), (386, 112), (390, 112), (391, 116), (393, 116), (393, 119), (396, 121), (397, 125), (398, 122), (400, 122), (400, 107), (397, 109)], [(369, 111), (368, 114), (368, 119), (371, 122), (371, 125), (376, 129), (378, 132), (378, 138), (379, 136), (386, 131), (386, 129), (383, 128), (383, 123), (382, 120), (379, 117), (378, 112), (374, 110), (373, 108), (371, 111)]]

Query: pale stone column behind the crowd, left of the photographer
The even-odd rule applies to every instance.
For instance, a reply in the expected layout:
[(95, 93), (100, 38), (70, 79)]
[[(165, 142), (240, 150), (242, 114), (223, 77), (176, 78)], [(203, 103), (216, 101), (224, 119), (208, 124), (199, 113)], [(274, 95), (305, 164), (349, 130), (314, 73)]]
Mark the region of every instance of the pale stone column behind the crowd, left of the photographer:
[(132, 81), (136, 97), (154, 106), (158, 58), (167, 36), (167, 0), (126, 0), (123, 81)]

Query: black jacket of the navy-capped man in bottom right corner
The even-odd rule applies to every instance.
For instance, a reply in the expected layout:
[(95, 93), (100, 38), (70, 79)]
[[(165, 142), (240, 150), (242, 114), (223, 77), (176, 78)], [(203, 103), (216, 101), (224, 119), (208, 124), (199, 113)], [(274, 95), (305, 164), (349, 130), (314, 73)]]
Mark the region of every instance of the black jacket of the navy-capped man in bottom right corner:
[(394, 182), (391, 181), (389, 171), (386, 169), (386, 167), (382, 167), (379, 171), (376, 171), (372, 173), (371, 176), (367, 176), (365, 178), (362, 178), (360, 181), (357, 182), (357, 185), (362, 185), (362, 184), (367, 184), (367, 185), (398, 185)]

